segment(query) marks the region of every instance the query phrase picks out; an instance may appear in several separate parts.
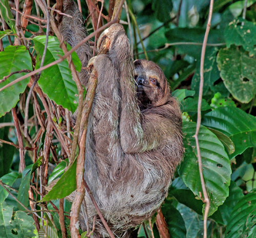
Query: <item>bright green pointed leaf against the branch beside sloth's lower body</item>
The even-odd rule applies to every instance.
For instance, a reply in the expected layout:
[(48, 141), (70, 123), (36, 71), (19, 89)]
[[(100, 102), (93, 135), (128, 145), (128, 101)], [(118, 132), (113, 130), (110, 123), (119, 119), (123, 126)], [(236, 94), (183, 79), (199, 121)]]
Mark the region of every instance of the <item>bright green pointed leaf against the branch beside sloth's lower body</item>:
[(76, 160), (69, 169), (61, 176), (53, 188), (46, 194), (41, 201), (50, 201), (69, 196), (76, 190)]

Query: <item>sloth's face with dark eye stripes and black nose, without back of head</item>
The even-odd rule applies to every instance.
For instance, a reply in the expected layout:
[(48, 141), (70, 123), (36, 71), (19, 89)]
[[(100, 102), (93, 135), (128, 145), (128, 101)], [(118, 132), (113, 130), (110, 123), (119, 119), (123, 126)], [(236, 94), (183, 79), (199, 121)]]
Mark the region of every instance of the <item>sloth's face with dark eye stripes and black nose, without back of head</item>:
[(159, 67), (156, 68), (156, 64), (152, 61), (136, 60), (134, 64), (137, 97), (145, 109), (162, 98), (162, 75), (159, 74)]

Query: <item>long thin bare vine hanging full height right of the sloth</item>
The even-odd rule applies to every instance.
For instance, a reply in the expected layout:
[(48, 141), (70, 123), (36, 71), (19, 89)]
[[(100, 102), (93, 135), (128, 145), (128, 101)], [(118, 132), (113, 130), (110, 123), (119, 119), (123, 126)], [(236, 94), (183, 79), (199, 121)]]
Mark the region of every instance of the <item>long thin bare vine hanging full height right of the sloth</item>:
[(201, 62), (200, 62), (200, 88), (199, 88), (199, 98), (198, 98), (198, 112), (197, 112), (197, 129), (195, 134), (196, 144), (197, 144), (197, 154), (198, 154), (198, 166), (199, 166), (199, 173), (200, 173), (200, 179), (202, 184), (202, 190), (203, 190), (203, 202), (205, 203), (205, 210), (204, 210), (204, 238), (207, 238), (207, 217), (210, 207), (210, 202), (208, 198), (208, 194), (205, 187), (204, 182), (204, 176), (203, 176), (203, 169), (202, 169), (202, 157), (199, 147), (199, 141), (198, 141), (198, 133), (201, 125), (201, 104), (202, 104), (202, 97), (203, 97), (203, 85), (204, 85), (204, 57), (205, 57), (205, 50), (206, 50), (206, 43), (208, 39), (208, 34), (210, 31), (210, 22), (211, 22), (211, 16), (212, 16), (212, 9), (214, 7), (214, 0), (210, 0), (210, 6), (209, 6), (209, 16), (208, 16), (208, 22), (207, 27), (204, 35), (204, 41), (203, 41), (203, 47), (202, 47), (202, 53), (201, 53)]

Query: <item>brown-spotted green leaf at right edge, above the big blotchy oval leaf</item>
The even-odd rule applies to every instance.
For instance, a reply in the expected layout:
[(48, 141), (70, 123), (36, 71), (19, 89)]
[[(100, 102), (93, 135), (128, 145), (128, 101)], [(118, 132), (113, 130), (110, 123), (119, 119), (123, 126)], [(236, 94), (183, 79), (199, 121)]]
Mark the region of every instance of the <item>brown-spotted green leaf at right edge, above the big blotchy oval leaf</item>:
[(246, 51), (250, 52), (250, 56), (255, 55), (256, 26), (250, 21), (242, 18), (234, 19), (226, 26), (224, 37), (227, 48), (230, 48), (231, 45), (242, 46)]

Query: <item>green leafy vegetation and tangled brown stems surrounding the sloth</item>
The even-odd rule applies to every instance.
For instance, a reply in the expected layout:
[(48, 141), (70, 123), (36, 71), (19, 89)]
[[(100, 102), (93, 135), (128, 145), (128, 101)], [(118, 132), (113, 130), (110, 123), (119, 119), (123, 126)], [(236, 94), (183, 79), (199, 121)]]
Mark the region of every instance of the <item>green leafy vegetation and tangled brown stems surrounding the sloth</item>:
[[(51, 7), (53, 4), (50, 2)], [(26, 8), (23, 0), (18, 6), (20, 11)], [(86, 2), (81, 1), (81, 6), (87, 18), (90, 11)], [(0, 90), (42, 66), (46, 42), (46, 28), (29, 22), (25, 31), (12, 8), (13, 1), (0, 0)], [(102, 9), (108, 16), (109, 1), (104, 2)], [(205, 53), (198, 136), (210, 200), (207, 237), (256, 237), (256, 0), (216, 0), (213, 12)], [(170, 236), (177, 238), (203, 237), (205, 205), (194, 135), (200, 56), (208, 13), (209, 1), (204, 0), (130, 0), (121, 14), (134, 58), (158, 63), (173, 96), (181, 102), (185, 156), (162, 206)], [(37, 16), (34, 2), (30, 15)], [(29, 19), (43, 26), (47, 23), (43, 18), (41, 23)], [(94, 31), (91, 18), (86, 25), (89, 33)], [(50, 30), (44, 65), (64, 54), (53, 35)], [(13, 44), (16, 46), (10, 46)], [(93, 49), (93, 41), (91, 45)], [(79, 71), (81, 64), (76, 54), (72, 54), (72, 59)], [(48, 237), (62, 237), (59, 214), (62, 209), (69, 213), (71, 204), (58, 199), (76, 188), (75, 162), (65, 170), (74, 133), (65, 109), (74, 112), (78, 104), (78, 90), (69, 63), (64, 60), (42, 71), (26, 106), (29, 88), (36, 77), (0, 91), (1, 237), (44, 237), (46, 233)], [(60, 176), (58, 188), (44, 199), (52, 202), (47, 206), (44, 202), (36, 203), (42, 199), (40, 194), (46, 193), (44, 186)], [(4, 188), (10, 186), (12, 195)], [(64, 213), (67, 217), (63, 221), (70, 237), (68, 213)], [(159, 237), (156, 219), (152, 220), (153, 230), (155, 237)], [(145, 222), (133, 235), (152, 237), (149, 223)]]

